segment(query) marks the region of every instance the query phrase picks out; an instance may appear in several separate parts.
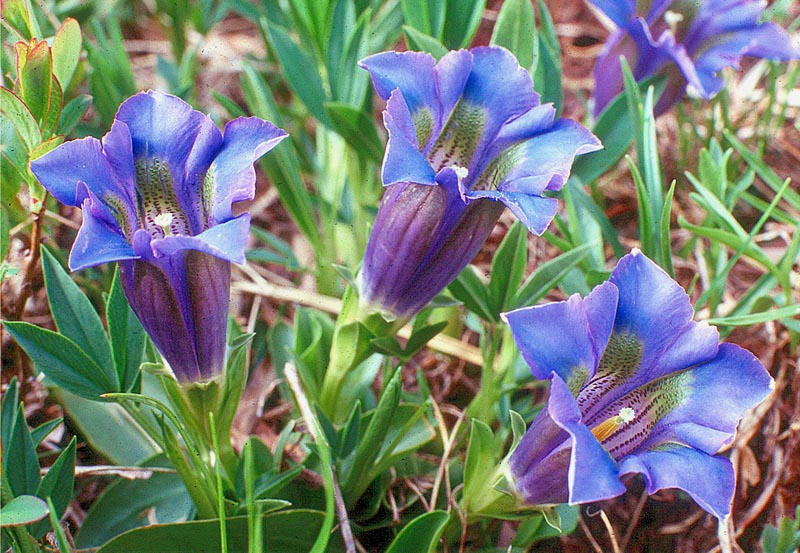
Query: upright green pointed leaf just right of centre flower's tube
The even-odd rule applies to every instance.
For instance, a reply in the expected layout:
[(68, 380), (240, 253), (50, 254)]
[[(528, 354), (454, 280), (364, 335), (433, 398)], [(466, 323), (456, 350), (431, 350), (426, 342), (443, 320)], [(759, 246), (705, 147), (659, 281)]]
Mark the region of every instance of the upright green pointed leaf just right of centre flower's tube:
[(489, 301), (493, 313), (499, 315), (508, 307), (509, 299), (519, 290), (527, 263), (528, 230), (520, 221), (516, 221), (492, 259)]

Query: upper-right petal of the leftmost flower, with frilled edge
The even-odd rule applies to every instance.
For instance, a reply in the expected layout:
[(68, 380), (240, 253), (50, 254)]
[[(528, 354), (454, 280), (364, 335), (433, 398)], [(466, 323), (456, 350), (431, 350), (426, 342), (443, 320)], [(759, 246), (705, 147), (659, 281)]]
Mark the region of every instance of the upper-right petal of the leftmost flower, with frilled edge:
[(222, 148), (206, 177), (213, 182), (207, 200), (212, 225), (233, 217), (233, 203), (253, 198), (256, 183), (253, 163), (286, 136), (272, 123), (257, 117), (240, 117), (225, 125)]

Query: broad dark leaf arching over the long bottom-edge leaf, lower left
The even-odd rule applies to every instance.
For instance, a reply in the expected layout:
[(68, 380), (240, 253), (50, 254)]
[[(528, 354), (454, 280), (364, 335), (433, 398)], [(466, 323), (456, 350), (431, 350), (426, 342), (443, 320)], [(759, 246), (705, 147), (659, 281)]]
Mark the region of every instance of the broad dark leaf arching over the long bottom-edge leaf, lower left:
[[(143, 470), (147, 468), (172, 467), (163, 456), (157, 456), (142, 465)], [(92, 504), (75, 536), (75, 545), (79, 549), (100, 547), (123, 532), (148, 524), (148, 519), (161, 524), (181, 522), (189, 520), (193, 512), (186, 487), (173, 470), (152, 472), (147, 479), (118, 478)], [(207, 545), (199, 540), (195, 543)]]

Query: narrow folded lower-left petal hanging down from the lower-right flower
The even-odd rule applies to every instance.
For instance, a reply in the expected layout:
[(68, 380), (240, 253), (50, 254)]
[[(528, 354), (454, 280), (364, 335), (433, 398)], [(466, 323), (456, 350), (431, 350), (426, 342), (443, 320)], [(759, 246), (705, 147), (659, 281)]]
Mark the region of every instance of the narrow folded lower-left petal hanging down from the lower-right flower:
[(617, 463), (581, 422), (578, 404), (558, 375), (550, 379), (547, 410), (553, 421), (572, 437), (568, 476), (570, 504), (600, 501), (625, 493)]

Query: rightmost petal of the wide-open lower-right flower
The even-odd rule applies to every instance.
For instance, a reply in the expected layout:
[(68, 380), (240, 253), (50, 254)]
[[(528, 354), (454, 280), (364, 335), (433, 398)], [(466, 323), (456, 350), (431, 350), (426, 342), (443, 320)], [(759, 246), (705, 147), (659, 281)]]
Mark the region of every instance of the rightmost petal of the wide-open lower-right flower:
[(677, 442), (713, 455), (733, 440), (745, 412), (774, 385), (761, 362), (735, 344), (721, 344), (714, 359), (690, 373), (685, 400), (656, 423), (642, 448)]

